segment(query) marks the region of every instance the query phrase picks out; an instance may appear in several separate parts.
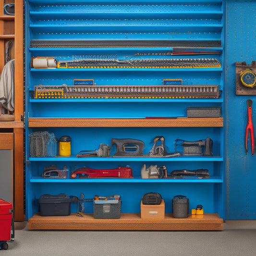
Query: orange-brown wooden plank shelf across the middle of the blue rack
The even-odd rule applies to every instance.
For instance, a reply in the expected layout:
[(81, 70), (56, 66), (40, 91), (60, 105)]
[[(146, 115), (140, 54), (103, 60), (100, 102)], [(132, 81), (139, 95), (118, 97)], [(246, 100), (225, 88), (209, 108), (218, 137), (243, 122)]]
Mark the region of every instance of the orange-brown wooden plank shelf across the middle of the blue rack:
[(223, 127), (223, 118), (28, 118), (29, 127)]

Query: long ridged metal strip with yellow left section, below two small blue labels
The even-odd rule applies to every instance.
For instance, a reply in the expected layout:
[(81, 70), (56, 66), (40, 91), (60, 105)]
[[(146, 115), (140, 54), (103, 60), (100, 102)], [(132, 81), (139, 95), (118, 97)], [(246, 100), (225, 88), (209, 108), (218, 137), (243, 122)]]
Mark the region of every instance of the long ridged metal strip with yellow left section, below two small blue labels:
[(35, 85), (34, 98), (219, 98), (219, 85)]

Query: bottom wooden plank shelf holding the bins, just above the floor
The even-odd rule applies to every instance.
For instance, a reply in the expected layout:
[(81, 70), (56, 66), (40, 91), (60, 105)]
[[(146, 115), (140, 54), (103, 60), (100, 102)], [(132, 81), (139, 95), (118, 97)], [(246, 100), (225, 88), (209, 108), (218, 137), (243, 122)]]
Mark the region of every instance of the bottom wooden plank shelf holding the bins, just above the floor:
[(94, 219), (93, 214), (42, 217), (37, 213), (28, 224), (30, 230), (223, 230), (223, 219), (217, 213), (184, 219), (172, 214), (166, 214), (165, 219), (141, 219), (140, 213), (122, 213), (120, 219)]

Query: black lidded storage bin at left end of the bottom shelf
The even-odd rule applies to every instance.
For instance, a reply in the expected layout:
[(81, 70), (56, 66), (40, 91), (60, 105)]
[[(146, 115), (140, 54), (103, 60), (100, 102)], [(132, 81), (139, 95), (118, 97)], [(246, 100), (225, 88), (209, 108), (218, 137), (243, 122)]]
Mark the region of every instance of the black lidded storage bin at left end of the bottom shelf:
[(41, 195), (38, 203), (41, 216), (68, 216), (72, 199), (66, 194)]

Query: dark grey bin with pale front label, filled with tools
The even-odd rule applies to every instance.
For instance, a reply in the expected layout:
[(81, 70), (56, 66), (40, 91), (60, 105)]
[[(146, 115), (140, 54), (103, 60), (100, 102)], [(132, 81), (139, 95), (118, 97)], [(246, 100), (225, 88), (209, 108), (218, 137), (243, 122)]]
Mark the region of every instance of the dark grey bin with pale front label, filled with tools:
[(93, 200), (93, 217), (95, 219), (120, 219), (121, 205), (121, 198), (115, 204), (95, 203), (95, 200)]

